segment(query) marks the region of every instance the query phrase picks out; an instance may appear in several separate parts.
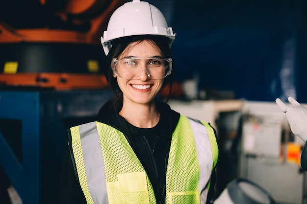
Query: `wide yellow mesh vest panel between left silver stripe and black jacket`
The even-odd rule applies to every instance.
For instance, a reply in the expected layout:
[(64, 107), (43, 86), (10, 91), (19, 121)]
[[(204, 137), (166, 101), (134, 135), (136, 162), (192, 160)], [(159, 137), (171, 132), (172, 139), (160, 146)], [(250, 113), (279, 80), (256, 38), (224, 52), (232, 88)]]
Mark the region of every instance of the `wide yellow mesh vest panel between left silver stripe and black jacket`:
[(126, 137), (115, 128), (96, 124), (109, 204), (155, 204), (152, 185)]

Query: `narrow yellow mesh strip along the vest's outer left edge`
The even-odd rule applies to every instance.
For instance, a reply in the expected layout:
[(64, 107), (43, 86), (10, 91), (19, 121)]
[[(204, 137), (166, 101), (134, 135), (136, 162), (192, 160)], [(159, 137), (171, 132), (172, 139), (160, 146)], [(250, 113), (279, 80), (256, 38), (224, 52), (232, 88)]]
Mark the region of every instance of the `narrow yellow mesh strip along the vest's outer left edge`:
[(82, 145), (81, 145), (81, 138), (79, 133), (79, 127), (73, 127), (70, 129), (72, 135), (72, 147), (75, 157), (75, 162), (77, 166), (77, 173), (79, 182), (84, 193), (86, 203), (87, 204), (94, 204), (90, 191), (88, 189), (88, 183), (86, 179), (86, 172), (84, 166), (84, 159), (83, 159), (83, 152), (82, 152)]

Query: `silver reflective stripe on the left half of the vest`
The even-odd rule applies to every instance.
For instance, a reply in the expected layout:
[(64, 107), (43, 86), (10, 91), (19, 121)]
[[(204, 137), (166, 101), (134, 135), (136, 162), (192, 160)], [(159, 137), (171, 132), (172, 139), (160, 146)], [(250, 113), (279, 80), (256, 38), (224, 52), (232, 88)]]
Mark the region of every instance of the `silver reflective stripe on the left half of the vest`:
[(108, 204), (102, 149), (96, 122), (79, 126), (88, 188), (95, 204)]

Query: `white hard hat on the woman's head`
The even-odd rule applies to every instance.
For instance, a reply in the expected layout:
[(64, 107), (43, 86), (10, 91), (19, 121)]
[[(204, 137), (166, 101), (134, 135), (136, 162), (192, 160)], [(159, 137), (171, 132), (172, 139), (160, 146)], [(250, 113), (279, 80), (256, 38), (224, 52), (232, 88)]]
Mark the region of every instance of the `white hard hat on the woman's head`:
[(132, 35), (162, 35), (170, 38), (170, 46), (175, 39), (161, 11), (140, 0), (127, 2), (114, 11), (101, 37), (104, 53), (108, 54), (112, 40)]

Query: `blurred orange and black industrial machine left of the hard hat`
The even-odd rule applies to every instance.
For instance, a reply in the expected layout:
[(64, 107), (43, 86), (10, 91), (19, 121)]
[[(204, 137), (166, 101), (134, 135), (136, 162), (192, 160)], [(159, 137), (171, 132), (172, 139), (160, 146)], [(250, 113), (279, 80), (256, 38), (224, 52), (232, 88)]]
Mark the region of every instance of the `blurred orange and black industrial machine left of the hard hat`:
[(124, 0), (0, 3), (0, 86), (101, 89), (100, 36)]

